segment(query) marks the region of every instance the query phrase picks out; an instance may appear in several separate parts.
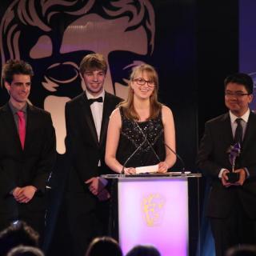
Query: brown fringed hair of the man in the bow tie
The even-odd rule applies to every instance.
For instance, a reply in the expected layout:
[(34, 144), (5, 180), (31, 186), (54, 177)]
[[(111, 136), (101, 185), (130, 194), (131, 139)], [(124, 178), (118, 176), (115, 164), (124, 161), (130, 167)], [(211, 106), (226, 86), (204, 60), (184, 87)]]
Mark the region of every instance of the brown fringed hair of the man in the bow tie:
[(84, 74), (86, 70), (103, 70), (106, 74), (107, 64), (102, 54), (87, 54), (80, 63), (79, 71)]

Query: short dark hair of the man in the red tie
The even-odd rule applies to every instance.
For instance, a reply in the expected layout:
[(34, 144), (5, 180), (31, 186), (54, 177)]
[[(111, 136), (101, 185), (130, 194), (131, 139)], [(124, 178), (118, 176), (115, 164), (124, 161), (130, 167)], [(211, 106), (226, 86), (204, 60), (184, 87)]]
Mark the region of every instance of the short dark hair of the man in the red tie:
[(32, 66), (30, 66), (29, 63), (18, 59), (10, 59), (2, 67), (2, 79), (11, 83), (14, 74), (28, 74), (30, 75), (30, 78), (34, 76)]

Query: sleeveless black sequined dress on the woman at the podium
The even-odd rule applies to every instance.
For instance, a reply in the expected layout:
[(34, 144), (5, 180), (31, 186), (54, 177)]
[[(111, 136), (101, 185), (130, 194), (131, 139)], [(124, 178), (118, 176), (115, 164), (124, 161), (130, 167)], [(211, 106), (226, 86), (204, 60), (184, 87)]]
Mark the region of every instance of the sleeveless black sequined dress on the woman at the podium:
[[(117, 150), (117, 159), (126, 167), (156, 165), (166, 158), (162, 114), (146, 122), (134, 122), (127, 119), (120, 108), (122, 129)], [(145, 137), (146, 136), (146, 137)], [(142, 146), (141, 146), (142, 145)], [(151, 146), (150, 146), (151, 145)]]

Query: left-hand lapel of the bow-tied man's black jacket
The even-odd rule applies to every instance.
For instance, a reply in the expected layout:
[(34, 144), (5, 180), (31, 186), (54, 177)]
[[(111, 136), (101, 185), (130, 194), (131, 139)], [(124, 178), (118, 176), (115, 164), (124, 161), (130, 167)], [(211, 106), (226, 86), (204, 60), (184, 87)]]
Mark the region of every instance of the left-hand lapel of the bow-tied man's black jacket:
[[(90, 130), (90, 134), (95, 142), (96, 145), (98, 145), (98, 135), (97, 135), (97, 131), (96, 131), (96, 127), (94, 124), (94, 118), (93, 115), (91, 114), (91, 110), (90, 110), (90, 105), (88, 103), (88, 99), (86, 97), (86, 94), (82, 94), (82, 98), (80, 101), (80, 105), (82, 108), (82, 124), (84, 124), (84, 122), (86, 121), (87, 126), (89, 127)], [(82, 128), (86, 130), (86, 127)]]

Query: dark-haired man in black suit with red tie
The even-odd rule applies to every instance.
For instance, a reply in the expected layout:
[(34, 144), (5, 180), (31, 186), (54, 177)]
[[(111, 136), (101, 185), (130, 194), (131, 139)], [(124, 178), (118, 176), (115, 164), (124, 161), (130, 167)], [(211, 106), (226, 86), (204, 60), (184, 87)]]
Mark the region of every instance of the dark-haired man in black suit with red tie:
[(20, 60), (2, 68), (10, 100), (0, 108), (0, 230), (20, 219), (42, 240), (56, 143), (50, 114), (27, 103), (32, 76), (32, 67)]

